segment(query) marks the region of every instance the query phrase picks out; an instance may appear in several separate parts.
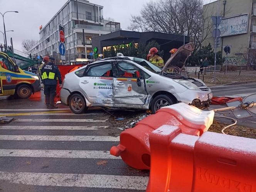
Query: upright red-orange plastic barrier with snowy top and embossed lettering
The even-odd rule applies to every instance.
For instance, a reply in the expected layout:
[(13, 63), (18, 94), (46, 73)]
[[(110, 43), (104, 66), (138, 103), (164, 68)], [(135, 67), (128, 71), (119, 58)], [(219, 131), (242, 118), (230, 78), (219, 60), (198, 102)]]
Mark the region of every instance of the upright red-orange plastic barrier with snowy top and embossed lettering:
[(162, 126), (149, 136), (147, 192), (256, 192), (256, 140)]

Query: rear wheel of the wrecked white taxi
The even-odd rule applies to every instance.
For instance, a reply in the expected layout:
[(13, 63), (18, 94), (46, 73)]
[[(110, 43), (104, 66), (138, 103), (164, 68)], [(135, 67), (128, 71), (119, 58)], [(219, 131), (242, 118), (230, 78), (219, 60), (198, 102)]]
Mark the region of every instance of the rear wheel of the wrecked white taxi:
[(69, 98), (69, 108), (75, 114), (81, 114), (88, 109), (86, 102), (80, 94), (72, 94)]

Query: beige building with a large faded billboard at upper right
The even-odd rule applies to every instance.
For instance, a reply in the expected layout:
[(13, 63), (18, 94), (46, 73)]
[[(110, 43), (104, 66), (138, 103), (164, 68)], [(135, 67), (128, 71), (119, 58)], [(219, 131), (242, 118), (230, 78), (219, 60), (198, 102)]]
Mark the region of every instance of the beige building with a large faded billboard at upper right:
[[(218, 1), (204, 5), (203, 45), (211, 43), (214, 47), (211, 16), (217, 15)], [(246, 66), (248, 54), (256, 53), (256, 0), (219, 0), (219, 15), (222, 16), (218, 29), (221, 31), (219, 47), (225, 57), (224, 64)], [(226, 54), (224, 47), (230, 47)]]

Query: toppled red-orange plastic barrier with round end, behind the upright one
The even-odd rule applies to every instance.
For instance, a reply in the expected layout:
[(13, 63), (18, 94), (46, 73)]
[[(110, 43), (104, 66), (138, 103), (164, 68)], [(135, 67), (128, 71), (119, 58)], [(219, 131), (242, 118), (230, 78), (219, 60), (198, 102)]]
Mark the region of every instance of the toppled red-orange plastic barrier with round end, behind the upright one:
[(185, 103), (163, 107), (120, 134), (120, 144), (110, 149), (111, 155), (121, 155), (125, 163), (136, 169), (150, 169), (150, 133), (162, 125), (178, 127), (182, 133), (200, 136), (212, 125), (213, 111), (202, 111)]

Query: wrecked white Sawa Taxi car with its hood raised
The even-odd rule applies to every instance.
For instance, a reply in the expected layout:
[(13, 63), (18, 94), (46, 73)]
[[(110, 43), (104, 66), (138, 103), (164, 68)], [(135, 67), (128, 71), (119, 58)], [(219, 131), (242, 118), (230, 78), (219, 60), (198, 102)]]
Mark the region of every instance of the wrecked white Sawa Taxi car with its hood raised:
[[(112, 57), (66, 74), (61, 101), (80, 114), (88, 107), (151, 109), (184, 102), (209, 104), (211, 89), (199, 79), (180, 75), (194, 50), (183, 45), (161, 69), (145, 59)], [(176, 71), (176, 72), (174, 72)], [(178, 73), (177, 73), (178, 72)]]

